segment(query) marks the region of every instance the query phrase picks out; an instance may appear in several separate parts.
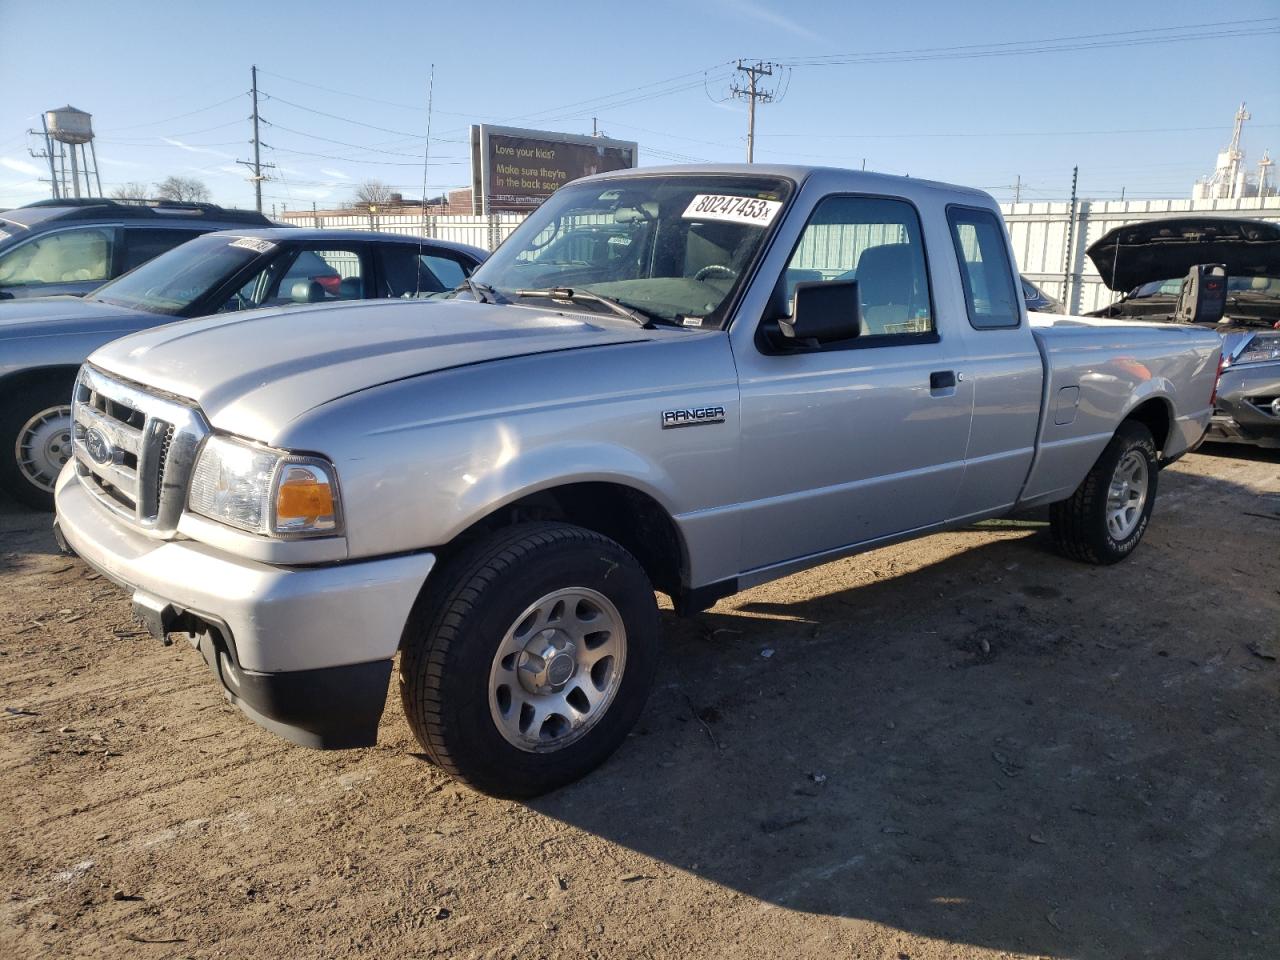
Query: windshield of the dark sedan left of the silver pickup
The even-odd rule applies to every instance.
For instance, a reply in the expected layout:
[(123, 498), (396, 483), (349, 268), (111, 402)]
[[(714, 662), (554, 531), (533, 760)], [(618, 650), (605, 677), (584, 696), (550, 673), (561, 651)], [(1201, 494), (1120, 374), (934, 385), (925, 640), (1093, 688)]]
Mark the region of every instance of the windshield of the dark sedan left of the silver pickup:
[(253, 237), (197, 237), (99, 287), (90, 300), (178, 316), (274, 246)]

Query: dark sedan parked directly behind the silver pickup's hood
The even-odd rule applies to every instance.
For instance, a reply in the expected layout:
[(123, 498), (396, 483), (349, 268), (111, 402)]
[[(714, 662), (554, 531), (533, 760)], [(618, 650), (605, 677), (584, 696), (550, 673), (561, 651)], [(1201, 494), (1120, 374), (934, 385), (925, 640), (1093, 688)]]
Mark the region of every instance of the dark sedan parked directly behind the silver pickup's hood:
[(76, 371), (116, 337), (205, 314), (439, 293), (484, 257), (389, 233), (234, 230), (198, 237), (83, 298), (0, 303), (0, 486), (52, 507), (72, 451)]

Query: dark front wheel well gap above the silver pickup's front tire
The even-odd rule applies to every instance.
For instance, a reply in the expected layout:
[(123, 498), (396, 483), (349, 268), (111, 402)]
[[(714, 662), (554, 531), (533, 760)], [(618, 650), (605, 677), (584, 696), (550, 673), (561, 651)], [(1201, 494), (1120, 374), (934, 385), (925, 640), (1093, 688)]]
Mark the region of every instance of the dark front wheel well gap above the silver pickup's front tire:
[(539, 490), (472, 524), (440, 552), (448, 556), (477, 535), (530, 520), (557, 520), (604, 534), (631, 553), (653, 585), (671, 596), (678, 595), (687, 580), (685, 544), (675, 521), (653, 497), (623, 484), (581, 483)]

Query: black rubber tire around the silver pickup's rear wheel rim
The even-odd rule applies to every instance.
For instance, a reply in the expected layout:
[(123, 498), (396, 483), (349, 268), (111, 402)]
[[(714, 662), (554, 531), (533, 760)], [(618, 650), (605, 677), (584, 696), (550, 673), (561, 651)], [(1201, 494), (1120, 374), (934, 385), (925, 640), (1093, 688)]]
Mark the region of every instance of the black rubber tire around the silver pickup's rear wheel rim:
[[(1123, 539), (1116, 539), (1107, 526), (1107, 493), (1116, 467), (1129, 453), (1147, 461), (1147, 499), (1137, 526)], [(1142, 535), (1147, 532), (1151, 511), (1156, 506), (1158, 479), (1158, 453), (1151, 431), (1139, 422), (1125, 420), (1070, 499), (1050, 508), (1050, 527), (1059, 549), (1083, 563), (1108, 564), (1123, 561), (1134, 552)]]

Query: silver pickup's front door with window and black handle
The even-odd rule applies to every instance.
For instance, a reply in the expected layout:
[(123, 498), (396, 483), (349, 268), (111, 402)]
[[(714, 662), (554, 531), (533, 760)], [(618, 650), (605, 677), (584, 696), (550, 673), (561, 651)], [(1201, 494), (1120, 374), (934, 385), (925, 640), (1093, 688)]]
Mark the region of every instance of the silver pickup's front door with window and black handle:
[(832, 196), (782, 283), (855, 279), (860, 335), (739, 349), (742, 571), (838, 552), (952, 515), (973, 419), (956, 342), (937, 334), (919, 216), (902, 200)]

